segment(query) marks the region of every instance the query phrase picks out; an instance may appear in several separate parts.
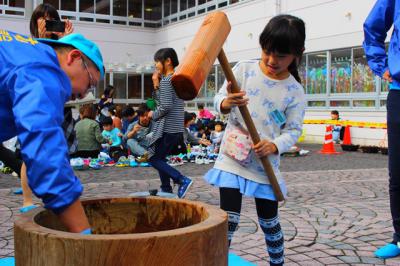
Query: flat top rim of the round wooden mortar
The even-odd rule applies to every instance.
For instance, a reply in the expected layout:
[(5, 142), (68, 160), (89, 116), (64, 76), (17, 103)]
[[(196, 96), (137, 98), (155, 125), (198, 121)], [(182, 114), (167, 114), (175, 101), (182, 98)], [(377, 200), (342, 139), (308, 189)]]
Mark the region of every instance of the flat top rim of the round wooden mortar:
[(65, 232), (65, 231), (59, 231), (59, 230), (54, 230), (50, 229), (44, 226), (41, 226), (35, 222), (35, 217), (43, 212), (46, 211), (43, 207), (38, 207), (35, 208), (27, 213), (22, 214), (19, 219), (15, 220), (15, 226), (18, 226), (19, 228), (22, 228), (24, 231), (29, 231), (30, 233), (36, 233), (36, 234), (47, 234), (47, 237), (57, 237), (57, 238), (65, 238), (65, 239), (79, 239), (79, 240), (115, 240), (116, 238), (121, 239), (121, 240), (126, 240), (126, 239), (147, 239), (151, 237), (157, 237), (157, 238), (163, 238), (163, 237), (171, 237), (171, 233), (175, 236), (179, 235), (185, 235), (188, 232), (194, 232), (194, 231), (203, 231), (205, 229), (209, 229), (216, 224), (220, 224), (221, 222), (224, 222), (227, 220), (227, 214), (212, 205), (203, 203), (203, 202), (194, 202), (194, 201), (189, 201), (189, 200), (183, 200), (183, 199), (170, 199), (170, 198), (160, 198), (160, 197), (146, 197), (146, 198), (132, 198), (132, 197), (126, 197), (126, 198), (91, 198), (87, 200), (82, 200), (82, 203), (85, 205), (90, 202), (96, 202), (96, 201), (107, 201), (111, 200), (111, 202), (130, 202), (132, 199), (137, 200), (137, 199), (151, 199), (151, 200), (162, 200), (162, 201), (179, 201), (185, 204), (193, 205), (195, 207), (202, 207), (205, 209), (205, 211), (208, 213), (208, 217), (204, 220), (201, 221), (200, 223), (196, 223), (190, 226), (182, 227), (182, 228), (177, 228), (177, 229), (171, 229), (171, 230), (165, 230), (165, 231), (158, 231), (158, 232), (148, 232), (148, 233), (134, 233), (134, 234), (93, 234), (93, 235), (81, 235), (77, 233), (70, 233), (70, 232)]

